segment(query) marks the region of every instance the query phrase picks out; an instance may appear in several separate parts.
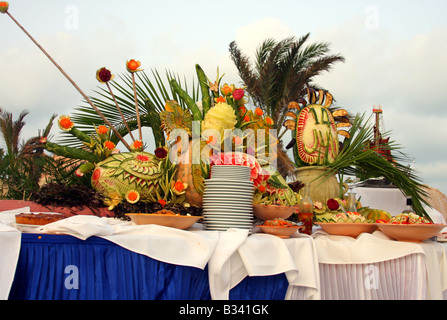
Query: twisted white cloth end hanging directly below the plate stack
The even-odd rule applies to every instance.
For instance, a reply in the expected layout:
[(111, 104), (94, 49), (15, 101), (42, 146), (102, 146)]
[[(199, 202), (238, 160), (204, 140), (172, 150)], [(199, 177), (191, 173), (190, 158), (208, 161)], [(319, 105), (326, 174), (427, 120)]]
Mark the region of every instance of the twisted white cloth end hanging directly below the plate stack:
[(236, 268), (242, 264), (235, 253), (246, 241), (248, 230), (230, 228), (218, 235), (217, 246), (208, 262), (210, 293), (213, 300), (229, 300), (230, 289), (241, 280)]

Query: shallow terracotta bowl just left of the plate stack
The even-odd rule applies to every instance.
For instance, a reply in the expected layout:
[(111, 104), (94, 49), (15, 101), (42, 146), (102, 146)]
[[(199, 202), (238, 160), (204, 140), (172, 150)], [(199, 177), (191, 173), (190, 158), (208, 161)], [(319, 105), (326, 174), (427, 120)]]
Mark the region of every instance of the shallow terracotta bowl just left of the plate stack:
[(146, 225), (156, 224), (159, 226), (171, 227), (185, 230), (191, 227), (199, 219), (203, 217), (197, 216), (181, 216), (181, 215), (166, 215), (166, 214), (146, 214), (146, 213), (127, 213), (135, 224)]

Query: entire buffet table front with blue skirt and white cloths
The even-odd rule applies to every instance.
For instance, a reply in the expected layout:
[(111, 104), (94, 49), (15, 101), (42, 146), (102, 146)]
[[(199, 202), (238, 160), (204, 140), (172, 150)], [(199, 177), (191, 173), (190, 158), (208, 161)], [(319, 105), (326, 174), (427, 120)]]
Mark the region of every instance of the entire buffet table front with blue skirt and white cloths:
[(62, 221), (26, 232), (0, 224), (2, 299), (442, 299), (447, 290), (447, 245), (431, 240)]

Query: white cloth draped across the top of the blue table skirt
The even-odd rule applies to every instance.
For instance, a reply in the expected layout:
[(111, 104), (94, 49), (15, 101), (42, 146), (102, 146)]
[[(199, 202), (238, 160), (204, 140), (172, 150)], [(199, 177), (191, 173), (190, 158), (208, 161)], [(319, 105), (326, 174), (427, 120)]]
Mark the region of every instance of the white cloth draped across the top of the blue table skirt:
[[(14, 214), (2, 216), (3, 222), (14, 225)], [(82, 240), (97, 236), (159, 261), (201, 269), (208, 265), (213, 299), (229, 299), (230, 290), (246, 276), (282, 273), (289, 281), (288, 297), (319, 298), (318, 260), (308, 236), (297, 234), (296, 238), (282, 240), (266, 234), (249, 236), (248, 230), (241, 229), (205, 231), (197, 224), (178, 230), (81, 215), (26, 231)]]

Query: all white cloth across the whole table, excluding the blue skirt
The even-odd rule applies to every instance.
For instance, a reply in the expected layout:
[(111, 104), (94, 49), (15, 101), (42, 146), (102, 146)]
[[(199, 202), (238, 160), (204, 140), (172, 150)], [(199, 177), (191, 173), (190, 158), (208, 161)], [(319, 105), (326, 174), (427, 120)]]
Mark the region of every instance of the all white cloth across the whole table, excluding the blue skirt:
[[(24, 212), (23, 209), (20, 209)], [(1, 299), (7, 298), (20, 249), (15, 213), (0, 213)], [(75, 216), (29, 232), (98, 236), (131, 251), (172, 264), (208, 264), (211, 297), (228, 299), (246, 276), (285, 273), (287, 299), (442, 299), (447, 290), (447, 244), (397, 242), (376, 231), (357, 239), (316, 230), (280, 239), (246, 230), (177, 230), (136, 226), (111, 218)], [(7, 248), (7, 249), (5, 249)], [(9, 257), (9, 258), (7, 258)]]

